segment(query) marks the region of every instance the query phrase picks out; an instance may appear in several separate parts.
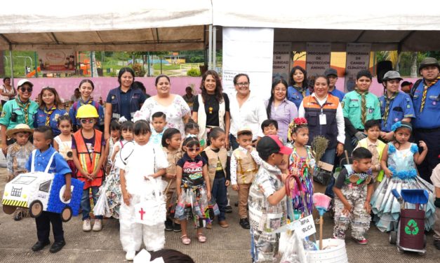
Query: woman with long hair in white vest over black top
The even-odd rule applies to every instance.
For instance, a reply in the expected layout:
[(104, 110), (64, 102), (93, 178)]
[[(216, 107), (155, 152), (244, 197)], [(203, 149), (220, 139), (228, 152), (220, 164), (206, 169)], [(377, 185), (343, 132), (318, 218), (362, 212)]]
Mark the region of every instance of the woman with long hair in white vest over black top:
[[(222, 92), (222, 81), (213, 70), (204, 73), (200, 90), (201, 94), (194, 97), (192, 119), (199, 124), (199, 139), (209, 142), (207, 135), (214, 127), (220, 127), (229, 134), (229, 98)], [(229, 145), (228, 138), (225, 139), (225, 145)]]

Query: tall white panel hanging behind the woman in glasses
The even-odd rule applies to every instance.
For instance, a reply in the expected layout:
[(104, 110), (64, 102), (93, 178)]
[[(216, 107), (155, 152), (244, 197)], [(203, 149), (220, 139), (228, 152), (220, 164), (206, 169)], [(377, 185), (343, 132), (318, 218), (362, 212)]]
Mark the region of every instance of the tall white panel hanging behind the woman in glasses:
[(262, 99), (270, 97), (274, 29), (223, 27), (222, 86), (235, 94), (234, 76), (246, 73), (253, 94)]

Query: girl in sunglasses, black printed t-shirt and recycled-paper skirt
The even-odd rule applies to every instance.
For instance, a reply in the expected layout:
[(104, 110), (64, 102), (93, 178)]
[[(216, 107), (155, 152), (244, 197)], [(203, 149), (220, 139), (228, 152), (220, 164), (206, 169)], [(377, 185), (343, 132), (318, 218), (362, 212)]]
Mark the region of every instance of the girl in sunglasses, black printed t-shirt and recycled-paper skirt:
[(211, 184), (209, 183), (206, 159), (199, 155), (200, 143), (196, 136), (187, 136), (183, 141), (183, 157), (176, 167), (176, 190), (178, 205), (175, 209), (175, 218), (180, 220), (182, 228), (182, 243), (189, 245), (191, 239), (187, 234), (187, 220), (192, 220), (197, 229), (197, 239), (200, 243), (206, 242), (203, 227), (210, 223), (205, 215), (208, 200), (211, 199)]

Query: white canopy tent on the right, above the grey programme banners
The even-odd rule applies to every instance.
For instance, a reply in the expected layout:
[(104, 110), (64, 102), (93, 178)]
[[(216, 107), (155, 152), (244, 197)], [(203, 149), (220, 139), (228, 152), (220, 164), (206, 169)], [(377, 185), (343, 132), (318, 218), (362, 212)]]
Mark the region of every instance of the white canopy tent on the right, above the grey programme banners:
[[(373, 50), (440, 50), (440, 3), (435, 0), (213, 0), (213, 25), (274, 28), (274, 42), (292, 42), (297, 51), (307, 42), (331, 42), (333, 51), (345, 51), (352, 42), (372, 43)], [(217, 40), (220, 46), (221, 30)]]

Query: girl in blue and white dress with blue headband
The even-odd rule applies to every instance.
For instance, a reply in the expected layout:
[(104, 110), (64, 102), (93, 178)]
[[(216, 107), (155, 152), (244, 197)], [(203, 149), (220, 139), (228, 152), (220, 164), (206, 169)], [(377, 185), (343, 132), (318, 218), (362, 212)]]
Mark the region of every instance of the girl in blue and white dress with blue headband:
[[(425, 207), (425, 229), (429, 230), (434, 224), (434, 187), (420, 178), (415, 164), (421, 164), (425, 159), (428, 148), (424, 141), (419, 141), (423, 148), (419, 153), (418, 145), (408, 141), (413, 127), (409, 122), (396, 122), (392, 125), (394, 141), (388, 143), (382, 152), (380, 164), (386, 178), (382, 180), (371, 199), (371, 207), (375, 214), (376, 227), (382, 232), (396, 228), (399, 220), (400, 204), (392, 194), (393, 189), (425, 189), (429, 192), (429, 201)], [(413, 208), (406, 203), (406, 208)]]

